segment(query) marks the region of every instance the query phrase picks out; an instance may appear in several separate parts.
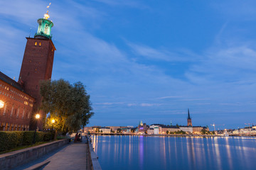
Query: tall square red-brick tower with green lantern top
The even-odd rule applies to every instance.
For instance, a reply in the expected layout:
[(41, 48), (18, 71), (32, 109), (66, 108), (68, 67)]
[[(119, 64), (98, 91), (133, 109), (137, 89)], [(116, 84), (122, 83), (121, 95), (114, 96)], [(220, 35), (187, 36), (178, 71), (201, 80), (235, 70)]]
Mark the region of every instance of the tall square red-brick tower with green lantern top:
[(50, 35), (53, 22), (48, 20), (49, 17), (47, 11), (44, 18), (38, 19), (38, 31), (34, 38), (26, 38), (27, 43), (18, 78), (18, 83), (23, 86), (24, 91), (36, 98), (33, 105), (30, 130), (36, 129), (36, 113), (41, 115), (38, 120), (39, 130), (43, 129), (43, 119), (46, 118), (46, 113), (39, 111), (41, 105), (40, 81), (51, 79), (53, 57), (56, 50), (51, 40), (52, 35)]

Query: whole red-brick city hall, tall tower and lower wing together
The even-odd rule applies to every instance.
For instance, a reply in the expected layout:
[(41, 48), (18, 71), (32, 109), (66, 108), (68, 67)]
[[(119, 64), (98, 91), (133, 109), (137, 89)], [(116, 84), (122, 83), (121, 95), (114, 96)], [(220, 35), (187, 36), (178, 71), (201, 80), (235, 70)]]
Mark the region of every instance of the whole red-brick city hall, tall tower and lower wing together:
[[(26, 38), (26, 48), (18, 82), (0, 72), (0, 130), (43, 130), (46, 113), (40, 111), (40, 81), (50, 80), (55, 46), (47, 13), (38, 19), (34, 38)], [(35, 115), (41, 117), (36, 120)]]

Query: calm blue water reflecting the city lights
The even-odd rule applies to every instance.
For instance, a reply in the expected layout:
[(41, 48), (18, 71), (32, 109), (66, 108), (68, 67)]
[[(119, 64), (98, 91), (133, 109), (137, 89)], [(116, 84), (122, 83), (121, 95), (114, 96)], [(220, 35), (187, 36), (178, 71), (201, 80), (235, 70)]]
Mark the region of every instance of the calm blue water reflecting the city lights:
[(92, 136), (107, 169), (256, 169), (256, 138)]

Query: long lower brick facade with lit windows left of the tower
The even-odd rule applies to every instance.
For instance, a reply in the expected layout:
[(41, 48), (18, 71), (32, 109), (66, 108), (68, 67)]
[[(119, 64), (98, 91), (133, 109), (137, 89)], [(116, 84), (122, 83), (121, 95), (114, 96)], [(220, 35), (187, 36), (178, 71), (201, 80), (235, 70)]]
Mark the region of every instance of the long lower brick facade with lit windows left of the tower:
[(0, 130), (28, 130), (35, 99), (20, 84), (0, 72)]

